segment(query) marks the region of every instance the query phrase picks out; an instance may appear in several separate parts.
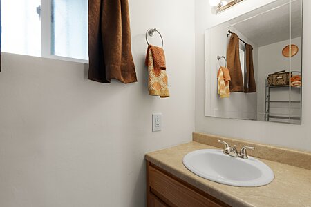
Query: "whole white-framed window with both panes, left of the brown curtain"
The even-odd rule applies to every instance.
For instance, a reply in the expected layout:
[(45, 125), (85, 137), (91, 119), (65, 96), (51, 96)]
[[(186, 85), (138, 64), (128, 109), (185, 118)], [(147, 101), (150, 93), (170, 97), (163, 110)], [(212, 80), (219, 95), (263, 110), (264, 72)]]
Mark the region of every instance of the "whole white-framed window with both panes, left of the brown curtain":
[(87, 62), (87, 0), (1, 0), (1, 7), (3, 52)]

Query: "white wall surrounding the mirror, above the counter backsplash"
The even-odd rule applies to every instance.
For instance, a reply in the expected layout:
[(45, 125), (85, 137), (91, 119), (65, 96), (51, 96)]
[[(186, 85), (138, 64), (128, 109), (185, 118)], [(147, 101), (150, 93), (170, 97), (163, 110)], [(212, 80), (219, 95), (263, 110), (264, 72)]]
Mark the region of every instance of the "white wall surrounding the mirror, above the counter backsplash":
[[(302, 124), (289, 125), (205, 117), (205, 42), (204, 32), (211, 26), (232, 19), (273, 0), (247, 0), (218, 15), (211, 14), (208, 1), (196, 0), (196, 131), (238, 137), (251, 141), (275, 144), (311, 151), (311, 81), (303, 81)], [(303, 1), (303, 80), (311, 79), (311, 1)]]

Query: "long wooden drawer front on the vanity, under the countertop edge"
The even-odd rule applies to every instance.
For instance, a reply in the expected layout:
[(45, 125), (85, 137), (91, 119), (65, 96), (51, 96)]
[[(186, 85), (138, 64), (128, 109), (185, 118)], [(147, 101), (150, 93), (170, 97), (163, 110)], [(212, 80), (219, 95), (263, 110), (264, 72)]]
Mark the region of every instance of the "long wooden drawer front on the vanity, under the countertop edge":
[(149, 186), (152, 193), (167, 199), (174, 206), (227, 206), (200, 195), (153, 166), (149, 166)]

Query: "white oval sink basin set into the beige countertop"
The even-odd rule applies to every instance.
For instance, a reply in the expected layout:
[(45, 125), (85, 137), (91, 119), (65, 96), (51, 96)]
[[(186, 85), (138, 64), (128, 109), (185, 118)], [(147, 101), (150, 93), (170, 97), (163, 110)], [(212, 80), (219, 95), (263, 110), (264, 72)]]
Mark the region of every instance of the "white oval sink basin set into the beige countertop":
[(229, 186), (265, 186), (274, 179), (262, 161), (230, 157), (223, 150), (196, 150), (185, 155), (183, 163), (194, 174)]

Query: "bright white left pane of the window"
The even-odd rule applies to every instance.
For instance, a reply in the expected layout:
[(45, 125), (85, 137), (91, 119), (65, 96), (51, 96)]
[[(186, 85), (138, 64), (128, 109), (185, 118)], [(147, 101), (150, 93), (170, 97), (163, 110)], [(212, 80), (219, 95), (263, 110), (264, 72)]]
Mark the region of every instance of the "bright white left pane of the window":
[(41, 55), (41, 22), (35, 10), (39, 4), (39, 0), (1, 0), (3, 52)]

